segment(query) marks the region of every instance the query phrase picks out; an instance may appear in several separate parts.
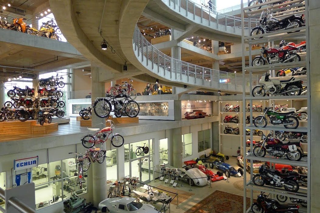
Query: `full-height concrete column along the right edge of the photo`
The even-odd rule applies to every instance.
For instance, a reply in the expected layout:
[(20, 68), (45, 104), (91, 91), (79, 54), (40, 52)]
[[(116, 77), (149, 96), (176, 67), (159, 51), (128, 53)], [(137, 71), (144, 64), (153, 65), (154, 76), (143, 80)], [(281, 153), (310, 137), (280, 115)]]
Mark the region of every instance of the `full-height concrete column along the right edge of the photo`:
[[(307, 61), (307, 64), (310, 62), (310, 70), (308, 70), (310, 76), (310, 85), (308, 88), (308, 95), (310, 92), (310, 114), (308, 120), (311, 120), (311, 137), (310, 138), (310, 150), (311, 153), (308, 153), (311, 158), (311, 168), (308, 169), (310, 172), (310, 207), (309, 212), (320, 212), (320, 202), (319, 202), (319, 193), (320, 193), (320, 131), (319, 124), (320, 121), (318, 116), (320, 114), (320, 74), (318, 72), (320, 61), (319, 61), (319, 45), (320, 40), (316, 35), (320, 34), (320, 23), (319, 23), (319, 14), (320, 14), (320, 1), (308, 1), (309, 7), (309, 51), (310, 51), (310, 61)], [(307, 58), (308, 59), (308, 58)]]

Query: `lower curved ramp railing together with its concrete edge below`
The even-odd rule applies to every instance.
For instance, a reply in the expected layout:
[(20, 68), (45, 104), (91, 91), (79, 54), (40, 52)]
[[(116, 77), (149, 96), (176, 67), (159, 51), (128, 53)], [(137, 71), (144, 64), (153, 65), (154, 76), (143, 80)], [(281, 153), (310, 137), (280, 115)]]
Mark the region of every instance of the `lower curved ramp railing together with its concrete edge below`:
[[(197, 66), (173, 59), (160, 52), (143, 37), (138, 27), (133, 35), (133, 51), (138, 61), (156, 78), (169, 82), (198, 86), (209, 90), (241, 93), (242, 74), (230, 73)], [(155, 74), (155, 75), (154, 75)], [(252, 86), (258, 84), (260, 76), (252, 76)], [(245, 78), (246, 92), (249, 92), (249, 77)]]

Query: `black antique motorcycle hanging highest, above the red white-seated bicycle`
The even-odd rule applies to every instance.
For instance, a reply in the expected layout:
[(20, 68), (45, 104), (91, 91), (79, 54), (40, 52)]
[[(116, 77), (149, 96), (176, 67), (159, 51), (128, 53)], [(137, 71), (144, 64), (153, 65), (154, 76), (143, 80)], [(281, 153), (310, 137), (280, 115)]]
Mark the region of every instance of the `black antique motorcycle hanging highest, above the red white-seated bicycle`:
[(130, 118), (138, 116), (140, 111), (139, 104), (133, 100), (129, 100), (127, 94), (118, 94), (116, 96), (107, 94), (106, 96), (105, 98), (97, 98), (93, 103), (93, 111), (99, 118), (108, 117), (111, 111), (114, 112), (117, 118), (121, 116), (128, 116)]

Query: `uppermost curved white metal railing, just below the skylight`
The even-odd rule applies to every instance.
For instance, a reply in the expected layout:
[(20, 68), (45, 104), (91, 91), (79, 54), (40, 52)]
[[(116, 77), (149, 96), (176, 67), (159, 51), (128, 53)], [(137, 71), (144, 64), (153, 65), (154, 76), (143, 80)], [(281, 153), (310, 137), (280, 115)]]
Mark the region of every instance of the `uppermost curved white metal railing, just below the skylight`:
[[(201, 20), (201, 23), (203, 20), (209, 20), (209, 26), (211, 22), (221, 24), (228, 27), (235, 27), (235, 28), (241, 28), (241, 17), (231, 16), (224, 13), (220, 13), (214, 10), (210, 10), (209, 8), (205, 7), (201, 4), (196, 4), (195, 2), (192, 2), (190, 0), (162, 0), (165, 4), (169, 2), (169, 6), (173, 4), (174, 9), (179, 9), (179, 12), (181, 12), (181, 9), (186, 11), (186, 16), (193, 15), (193, 20), (196, 19), (195, 16), (198, 16)], [(259, 19), (251, 19), (251, 28), (254, 28), (258, 25)], [(249, 21), (248, 19), (244, 19), (244, 28), (248, 29), (249, 27)]]

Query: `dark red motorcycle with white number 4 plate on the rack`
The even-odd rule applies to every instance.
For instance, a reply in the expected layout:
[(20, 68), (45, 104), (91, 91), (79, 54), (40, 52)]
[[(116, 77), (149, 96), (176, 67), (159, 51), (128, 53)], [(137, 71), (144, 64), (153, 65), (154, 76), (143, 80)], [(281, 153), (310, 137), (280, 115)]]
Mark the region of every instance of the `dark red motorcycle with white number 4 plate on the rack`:
[(262, 135), (262, 144), (257, 145), (253, 149), (253, 154), (257, 157), (264, 157), (266, 153), (276, 158), (287, 157), (289, 160), (299, 161), (303, 156), (303, 150), (301, 143), (299, 142), (288, 142), (282, 143), (277, 138), (270, 138), (271, 134), (267, 136)]

